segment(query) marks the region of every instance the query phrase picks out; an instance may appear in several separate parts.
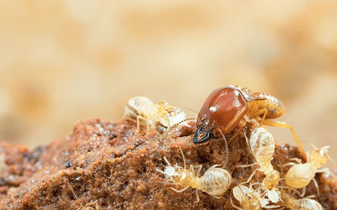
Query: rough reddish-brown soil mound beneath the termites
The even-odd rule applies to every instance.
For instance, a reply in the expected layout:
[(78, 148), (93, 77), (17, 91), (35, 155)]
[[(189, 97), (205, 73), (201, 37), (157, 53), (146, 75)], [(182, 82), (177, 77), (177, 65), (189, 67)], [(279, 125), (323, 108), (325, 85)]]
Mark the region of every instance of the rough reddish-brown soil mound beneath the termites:
[[(171, 164), (183, 166), (179, 146), (187, 166), (203, 165), (201, 175), (225, 159), (223, 140), (195, 146), (191, 142), (195, 123), (190, 122), (190, 126), (176, 129), (164, 139), (164, 128), (160, 126), (146, 133), (144, 127), (138, 132), (133, 122), (92, 119), (78, 123), (63, 140), (32, 151), (24, 145), (0, 143), (0, 209), (232, 209), (230, 197), (235, 200), (235, 182), (220, 199), (199, 190), (200, 202), (196, 204), (194, 189), (178, 193), (170, 187), (181, 189), (180, 186), (159, 183), (170, 182), (155, 170), (166, 167), (164, 156)], [(245, 127), (248, 135), (252, 126), (254, 123)], [(281, 171), (279, 166), (294, 157), (306, 161), (297, 147), (277, 143), (274, 169)], [(254, 167), (235, 166), (251, 163), (253, 155), (240, 134), (229, 144), (229, 163), (223, 168), (241, 182), (247, 180)], [(283, 175), (289, 168), (282, 168)], [(316, 174), (319, 196), (313, 182), (307, 187), (306, 195), (316, 195), (315, 199), (327, 210), (337, 209), (336, 174), (336, 169)], [(258, 173), (252, 182), (263, 177)], [(283, 181), (281, 184), (285, 185)], [(239, 206), (236, 200), (235, 204)]]

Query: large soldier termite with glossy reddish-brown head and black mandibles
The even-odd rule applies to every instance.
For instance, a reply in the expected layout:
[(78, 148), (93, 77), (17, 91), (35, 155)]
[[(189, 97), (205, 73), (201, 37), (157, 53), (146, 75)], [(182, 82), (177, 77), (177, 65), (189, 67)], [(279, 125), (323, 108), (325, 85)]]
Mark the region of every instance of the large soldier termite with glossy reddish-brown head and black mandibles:
[[(226, 86), (213, 90), (201, 107), (197, 118), (197, 130), (193, 143), (202, 143), (216, 138), (220, 128), (223, 134), (228, 134), (237, 128), (229, 142), (246, 125), (245, 115), (255, 119), (260, 126), (277, 126), (290, 128), (299, 148), (303, 151), (295, 130), (292, 126), (278, 121), (272, 121), (285, 113), (282, 103), (266, 93), (252, 92), (248, 88)], [(205, 135), (198, 140), (200, 133)]]

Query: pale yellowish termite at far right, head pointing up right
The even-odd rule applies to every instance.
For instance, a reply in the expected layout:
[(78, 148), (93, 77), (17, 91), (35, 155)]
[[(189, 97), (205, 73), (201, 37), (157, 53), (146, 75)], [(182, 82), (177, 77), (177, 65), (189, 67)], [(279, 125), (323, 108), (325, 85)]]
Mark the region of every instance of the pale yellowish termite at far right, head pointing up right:
[(298, 164), (289, 163), (287, 165), (294, 165), (290, 168), (286, 174), (286, 177), (303, 177), (306, 179), (286, 179), (286, 184), (292, 188), (303, 188), (307, 186), (311, 180), (314, 181), (316, 188), (318, 185), (314, 179), (316, 172), (324, 172), (329, 170), (328, 168), (321, 168), (323, 164), (328, 162), (328, 159), (331, 159), (328, 155), (328, 148), (330, 146), (325, 146), (313, 150), (311, 156), (307, 155), (308, 163), (301, 164), (298, 160)]

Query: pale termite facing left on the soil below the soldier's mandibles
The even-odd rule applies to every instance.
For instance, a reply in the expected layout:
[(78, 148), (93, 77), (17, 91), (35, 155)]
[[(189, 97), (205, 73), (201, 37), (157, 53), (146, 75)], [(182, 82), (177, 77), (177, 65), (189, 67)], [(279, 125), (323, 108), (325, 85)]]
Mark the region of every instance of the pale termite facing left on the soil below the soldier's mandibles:
[(206, 170), (203, 176), (198, 177), (202, 165), (198, 166), (199, 169), (197, 174), (195, 175), (192, 165), (190, 165), (190, 169), (186, 168), (185, 156), (181, 147), (179, 148), (184, 159), (184, 168), (177, 165), (171, 166), (166, 157), (164, 157), (164, 160), (168, 164), (168, 166), (164, 169), (164, 171), (156, 168), (157, 171), (165, 174), (172, 181), (172, 183), (164, 182), (165, 184), (180, 185), (181, 187), (183, 187), (183, 189), (180, 190), (171, 188), (176, 192), (183, 192), (190, 187), (195, 188), (197, 197), (196, 202), (199, 202), (198, 189), (208, 193), (215, 198), (219, 198), (219, 195), (222, 195), (224, 192), (227, 191), (232, 183), (232, 176), (227, 170), (223, 168), (217, 168), (220, 165), (214, 165)]

